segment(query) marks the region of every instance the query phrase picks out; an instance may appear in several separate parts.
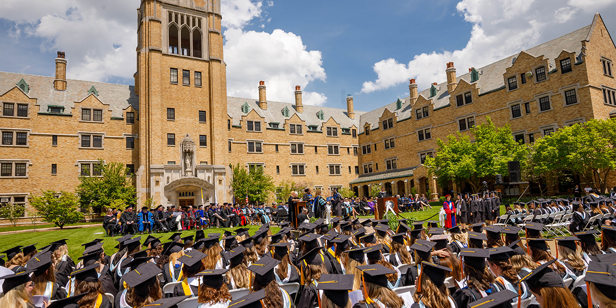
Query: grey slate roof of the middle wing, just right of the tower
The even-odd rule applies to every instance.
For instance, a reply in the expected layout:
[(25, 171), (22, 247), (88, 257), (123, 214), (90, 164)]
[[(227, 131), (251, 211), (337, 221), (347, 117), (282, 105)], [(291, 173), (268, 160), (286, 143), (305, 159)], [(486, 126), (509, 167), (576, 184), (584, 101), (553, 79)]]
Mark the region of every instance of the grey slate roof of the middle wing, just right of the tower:
[[(331, 118), (334, 118), (336, 123), (340, 124), (341, 128), (351, 128), (354, 126), (359, 128), (359, 117), (363, 115), (364, 111), (355, 111), (355, 119), (352, 120), (347, 116), (347, 110), (341, 108), (331, 108), (331, 107), (320, 107), (320, 106), (310, 106), (304, 105), (304, 112), (298, 113), (295, 110), (295, 103), (282, 103), (282, 102), (273, 102), (271, 100), (267, 101), (267, 110), (262, 110), (255, 99), (242, 99), (240, 97), (227, 97), (227, 114), (233, 118), (233, 125), (239, 125), (241, 116), (247, 115), (248, 113), (243, 113), (241, 107), (244, 103), (248, 103), (250, 113), (252, 110), (255, 110), (259, 116), (265, 118), (267, 123), (280, 123), (280, 127), (282, 128), (282, 124), (285, 123), (285, 120), (290, 119), (294, 114), (297, 114), (302, 121), (306, 122), (306, 125), (316, 125), (319, 126), (319, 130), (321, 129), (323, 123), (328, 121)], [(282, 110), (287, 107), (289, 109), (288, 118), (283, 116)], [(318, 111), (323, 110), (325, 114), (324, 120), (320, 120), (317, 117)]]

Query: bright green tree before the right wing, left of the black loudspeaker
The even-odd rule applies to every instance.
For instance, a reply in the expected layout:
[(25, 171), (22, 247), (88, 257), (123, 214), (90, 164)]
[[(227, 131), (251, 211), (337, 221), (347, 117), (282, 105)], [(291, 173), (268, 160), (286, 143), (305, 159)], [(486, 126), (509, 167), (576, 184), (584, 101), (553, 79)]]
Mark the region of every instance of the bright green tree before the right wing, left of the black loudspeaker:
[(424, 164), (429, 174), (437, 176), (440, 186), (468, 182), (473, 192), (478, 192), (485, 177), (506, 173), (507, 162), (521, 160), (527, 151), (514, 140), (509, 124), (496, 128), (488, 116), (471, 129), (471, 134), (474, 142), (460, 132), (447, 136), (447, 141), (438, 139), (436, 157), (426, 158)]

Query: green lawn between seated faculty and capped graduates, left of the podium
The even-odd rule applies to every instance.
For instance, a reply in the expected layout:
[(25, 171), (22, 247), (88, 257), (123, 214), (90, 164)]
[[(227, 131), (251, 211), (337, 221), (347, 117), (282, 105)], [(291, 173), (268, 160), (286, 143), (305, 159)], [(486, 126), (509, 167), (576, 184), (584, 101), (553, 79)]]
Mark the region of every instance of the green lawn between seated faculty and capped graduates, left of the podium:
[[(249, 233), (251, 235), (259, 229), (258, 225), (248, 225), (246, 228), (249, 229)], [(2, 228), (4, 229), (4, 228)], [(224, 233), (225, 230), (234, 230), (235, 228), (210, 228), (205, 229), (205, 233)], [(272, 232), (278, 232), (280, 228), (272, 227)], [(99, 233), (99, 234), (97, 234)], [(173, 233), (152, 233), (152, 236), (161, 237), (161, 241), (164, 243), (169, 241), (168, 238), (171, 237)], [(138, 235), (138, 234), (137, 234)], [(184, 231), (182, 232), (182, 237), (187, 237), (188, 235), (195, 235), (195, 230)], [(140, 235), (141, 243), (144, 243), (145, 239), (148, 237), (147, 233)], [(73, 258), (75, 262), (77, 262), (77, 258), (81, 256), (83, 253), (83, 246), (81, 244), (87, 243), (89, 241), (93, 241), (97, 238), (102, 238), (103, 248), (105, 252), (109, 255), (115, 253), (118, 249), (114, 248), (114, 246), (118, 245), (118, 242), (115, 241), (118, 237), (105, 237), (105, 230), (102, 226), (100, 227), (89, 227), (89, 228), (79, 228), (79, 229), (70, 229), (70, 230), (51, 230), (51, 231), (43, 231), (43, 232), (24, 232), (24, 233), (15, 233), (15, 234), (7, 234), (0, 235), (0, 251), (4, 251), (6, 249), (22, 245), (32, 245), (36, 244), (36, 247), (43, 247), (52, 241), (62, 240), (63, 238), (68, 238), (68, 255)]]

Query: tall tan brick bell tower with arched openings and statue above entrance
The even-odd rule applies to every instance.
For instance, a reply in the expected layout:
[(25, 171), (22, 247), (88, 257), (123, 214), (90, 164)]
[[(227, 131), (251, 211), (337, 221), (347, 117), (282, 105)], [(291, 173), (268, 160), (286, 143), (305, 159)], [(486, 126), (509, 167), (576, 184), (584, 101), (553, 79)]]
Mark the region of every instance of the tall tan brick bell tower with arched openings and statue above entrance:
[[(225, 195), (224, 188), (213, 191), (221, 176), (216, 165), (226, 164), (215, 149), (227, 143), (220, 0), (142, 0), (137, 23), (139, 202), (176, 205), (177, 195), (186, 194), (172, 187), (195, 177), (204, 181), (193, 183), (198, 194)], [(195, 140), (189, 156), (182, 150), (186, 138)]]

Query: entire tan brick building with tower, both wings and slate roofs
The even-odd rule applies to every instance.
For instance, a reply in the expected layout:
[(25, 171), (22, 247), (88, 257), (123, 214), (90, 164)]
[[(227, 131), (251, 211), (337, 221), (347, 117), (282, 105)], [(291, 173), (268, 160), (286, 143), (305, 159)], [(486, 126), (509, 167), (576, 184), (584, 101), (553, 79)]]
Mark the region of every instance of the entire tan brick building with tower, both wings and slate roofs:
[(486, 115), (524, 142), (616, 115), (616, 49), (599, 15), (463, 75), (447, 63), (447, 82), (419, 92), (411, 79), (409, 97), (367, 113), (350, 95), (347, 108), (302, 105), (299, 86), (295, 102), (269, 101), (264, 81), (258, 98), (227, 97), (217, 0), (142, 0), (137, 21), (134, 86), (67, 79), (63, 52), (53, 77), (0, 72), (0, 203), (74, 191), (99, 158), (128, 166), (139, 203), (230, 202), (237, 163), (323, 190), (437, 193), (424, 157)]

